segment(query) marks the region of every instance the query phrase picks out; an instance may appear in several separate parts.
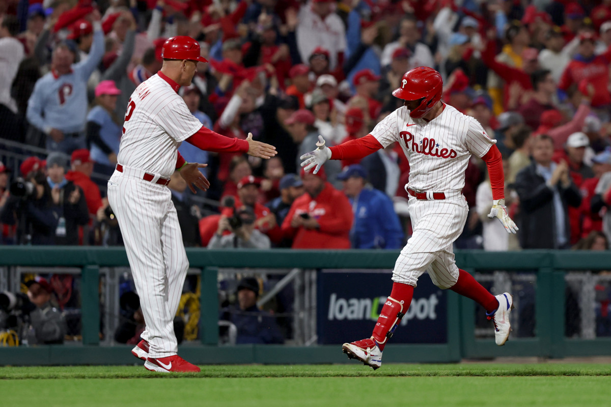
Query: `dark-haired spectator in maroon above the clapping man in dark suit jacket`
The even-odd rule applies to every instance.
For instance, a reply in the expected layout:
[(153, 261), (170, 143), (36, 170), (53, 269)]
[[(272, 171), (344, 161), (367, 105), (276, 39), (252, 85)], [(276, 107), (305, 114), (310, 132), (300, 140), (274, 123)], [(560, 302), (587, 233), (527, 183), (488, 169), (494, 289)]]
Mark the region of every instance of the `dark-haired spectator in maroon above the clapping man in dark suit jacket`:
[(524, 122), (531, 129), (539, 127), (541, 114), (544, 111), (555, 109), (553, 98), (557, 87), (549, 70), (536, 70), (530, 74), (530, 81), (533, 85), (533, 94), (527, 103), (518, 107), (518, 113), (524, 117)]

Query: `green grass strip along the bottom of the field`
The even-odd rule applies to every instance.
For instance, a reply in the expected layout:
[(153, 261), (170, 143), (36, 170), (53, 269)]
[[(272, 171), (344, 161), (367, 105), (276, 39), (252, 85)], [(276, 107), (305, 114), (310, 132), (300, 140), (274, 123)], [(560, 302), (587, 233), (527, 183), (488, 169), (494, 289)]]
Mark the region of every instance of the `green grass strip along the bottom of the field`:
[(2, 406), (609, 406), (606, 364), (0, 367)]

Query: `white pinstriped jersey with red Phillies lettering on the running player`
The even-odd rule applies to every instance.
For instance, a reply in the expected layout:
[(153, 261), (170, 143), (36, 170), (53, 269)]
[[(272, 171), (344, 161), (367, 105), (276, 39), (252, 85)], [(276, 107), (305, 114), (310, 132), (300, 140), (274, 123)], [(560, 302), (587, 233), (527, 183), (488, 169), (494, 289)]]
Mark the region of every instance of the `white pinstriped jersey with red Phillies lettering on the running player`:
[(405, 106), (390, 113), (370, 133), (386, 148), (398, 142), (409, 160), (411, 189), (459, 191), (471, 154), (485, 156), (496, 143), (472, 117), (445, 105), (431, 121), (414, 119)]

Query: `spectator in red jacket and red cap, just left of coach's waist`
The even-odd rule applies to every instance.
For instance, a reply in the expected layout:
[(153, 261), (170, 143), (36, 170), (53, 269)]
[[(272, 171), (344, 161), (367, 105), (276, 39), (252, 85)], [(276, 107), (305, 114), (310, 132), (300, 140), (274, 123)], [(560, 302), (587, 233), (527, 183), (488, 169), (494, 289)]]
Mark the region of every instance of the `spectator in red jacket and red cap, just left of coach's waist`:
[(87, 203), (89, 214), (95, 216), (102, 206), (100, 187), (91, 180), (93, 160), (86, 148), (73, 151), (70, 157), (71, 170), (66, 173), (66, 179), (78, 186)]

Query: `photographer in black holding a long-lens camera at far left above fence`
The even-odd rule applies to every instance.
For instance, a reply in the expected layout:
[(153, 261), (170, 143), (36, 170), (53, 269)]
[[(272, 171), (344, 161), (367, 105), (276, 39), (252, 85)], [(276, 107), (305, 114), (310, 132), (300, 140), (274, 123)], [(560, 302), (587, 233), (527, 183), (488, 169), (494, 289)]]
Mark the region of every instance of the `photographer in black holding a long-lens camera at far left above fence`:
[(10, 191), (0, 208), (0, 223), (17, 225), (19, 244), (52, 245), (57, 218), (45, 175), (38, 170), (29, 171), (25, 179), (13, 182)]

